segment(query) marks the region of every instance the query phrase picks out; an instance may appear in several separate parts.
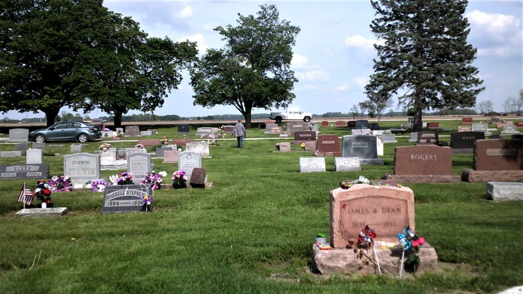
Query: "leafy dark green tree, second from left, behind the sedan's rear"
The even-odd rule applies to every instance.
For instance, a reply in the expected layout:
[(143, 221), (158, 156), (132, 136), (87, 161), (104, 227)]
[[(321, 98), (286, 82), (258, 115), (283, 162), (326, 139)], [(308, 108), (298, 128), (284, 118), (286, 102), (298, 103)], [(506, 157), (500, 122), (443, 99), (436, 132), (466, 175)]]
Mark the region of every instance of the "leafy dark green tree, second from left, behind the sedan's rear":
[(106, 31), (98, 32), (96, 48), (83, 52), (84, 77), (79, 92), (86, 93), (84, 109), (98, 107), (121, 126), (129, 110), (149, 112), (161, 107), (168, 92), (181, 82), (181, 70), (196, 60), (193, 42), (147, 38), (129, 17), (106, 19)]

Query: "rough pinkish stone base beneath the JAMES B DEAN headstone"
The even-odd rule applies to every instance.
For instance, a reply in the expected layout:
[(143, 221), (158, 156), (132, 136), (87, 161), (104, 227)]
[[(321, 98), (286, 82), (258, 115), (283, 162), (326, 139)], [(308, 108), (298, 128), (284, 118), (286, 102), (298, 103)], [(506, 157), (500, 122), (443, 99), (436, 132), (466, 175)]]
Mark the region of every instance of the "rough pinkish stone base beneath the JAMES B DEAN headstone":
[[(380, 262), (381, 273), (384, 275), (399, 276), (403, 247), (382, 249), (378, 245), (375, 246), (375, 249), (378, 255), (378, 261)], [(354, 249), (331, 248), (329, 250), (320, 250), (318, 246), (313, 245), (312, 266), (322, 275), (337, 273), (379, 274), (373, 251), (367, 248), (362, 248), (362, 250), (365, 255), (359, 258), (359, 254), (355, 253)], [(419, 246), (417, 255), (419, 256), (421, 265), (416, 273), (438, 269), (438, 255), (436, 254), (436, 250), (428, 243)], [(405, 259), (406, 258), (407, 256), (405, 255)], [(365, 263), (366, 261), (368, 261), (368, 264)], [(403, 276), (405, 275), (406, 271), (404, 269)]]

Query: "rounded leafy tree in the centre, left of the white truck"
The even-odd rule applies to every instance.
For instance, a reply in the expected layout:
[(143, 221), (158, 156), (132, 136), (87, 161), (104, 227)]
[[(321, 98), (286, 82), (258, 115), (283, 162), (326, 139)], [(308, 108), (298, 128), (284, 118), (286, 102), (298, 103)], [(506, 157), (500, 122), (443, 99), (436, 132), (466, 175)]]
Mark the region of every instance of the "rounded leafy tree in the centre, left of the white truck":
[(256, 17), (238, 14), (236, 27), (215, 28), (225, 47), (208, 50), (190, 71), (194, 105), (233, 105), (247, 128), (253, 108), (287, 106), (298, 81), (289, 67), (300, 28), (280, 20), (275, 5), (260, 8)]

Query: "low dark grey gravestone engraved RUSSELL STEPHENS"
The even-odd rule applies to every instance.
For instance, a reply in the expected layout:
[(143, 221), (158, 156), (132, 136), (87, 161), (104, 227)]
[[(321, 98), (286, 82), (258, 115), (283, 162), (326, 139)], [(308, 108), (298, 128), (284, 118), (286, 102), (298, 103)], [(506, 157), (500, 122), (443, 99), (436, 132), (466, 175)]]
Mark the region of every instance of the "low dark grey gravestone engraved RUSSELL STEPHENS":
[(151, 196), (152, 186), (111, 185), (105, 187), (102, 213), (137, 212), (143, 208), (142, 197)]

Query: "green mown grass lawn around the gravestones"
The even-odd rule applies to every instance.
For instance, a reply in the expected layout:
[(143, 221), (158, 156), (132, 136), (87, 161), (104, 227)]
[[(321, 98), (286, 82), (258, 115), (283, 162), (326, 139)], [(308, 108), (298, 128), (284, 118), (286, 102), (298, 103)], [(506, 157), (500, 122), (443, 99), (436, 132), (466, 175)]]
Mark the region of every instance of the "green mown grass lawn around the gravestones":
[[(152, 138), (181, 138), (176, 128), (157, 131)], [(320, 131), (348, 134), (347, 128)], [(385, 144), (383, 166), (335, 172), (334, 157), (325, 157), (327, 172), (303, 174), (299, 157), (313, 152), (274, 152), (276, 142), (292, 138), (246, 140), (241, 150), (236, 140), (221, 140), (210, 147), (212, 158), (202, 159), (213, 188), (155, 191), (153, 213), (101, 214), (103, 194), (83, 190), (53, 194), (55, 207), (70, 210), (65, 217), (16, 219), (24, 180), (2, 180), (0, 293), (490, 293), (522, 285), (523, 203), (485, 200), (484, 183), (403, 184), (414, 190), (418, 234), (441, 263), (455, 265), (403, 280), (310, 273), (314, 237), (329, 233), (329, 191), (340, 180), (393, 173), (394, 146), (413, 144), (406, 136)], [(251, 129), (247, 138), (274, 135)], [(47, 151), (68, 154), (70, 143), (59, 144)], [(89, 142), (84, 151), (99, 145)], [(0, 150), (14, 146), (0, 144)], [(452, 160), (454, 174), (472, 167), (470, 154)], [(25, 158), (1, 163), (20, 161)], [(51, 175), (63, 172), (62, 156), (44, 162)], [(169, 175), (177, 169), (153, 163)]]

